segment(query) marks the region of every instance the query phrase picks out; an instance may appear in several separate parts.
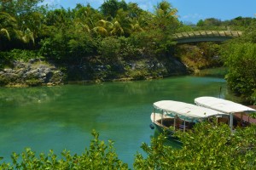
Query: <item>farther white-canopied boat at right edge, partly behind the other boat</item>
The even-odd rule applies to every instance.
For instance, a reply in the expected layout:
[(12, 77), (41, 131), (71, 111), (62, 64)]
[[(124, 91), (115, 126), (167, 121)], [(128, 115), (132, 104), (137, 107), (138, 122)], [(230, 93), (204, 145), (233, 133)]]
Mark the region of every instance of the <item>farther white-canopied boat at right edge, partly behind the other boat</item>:
[(230, 100), (203, 96), (195, 98), (195, 104), (229, 114), (231, 129), (234, 127), (244, 127), (251, 123), (256, 123), (256, 119), (250, 116), (250, 114), (255, 113), (256, 110)]

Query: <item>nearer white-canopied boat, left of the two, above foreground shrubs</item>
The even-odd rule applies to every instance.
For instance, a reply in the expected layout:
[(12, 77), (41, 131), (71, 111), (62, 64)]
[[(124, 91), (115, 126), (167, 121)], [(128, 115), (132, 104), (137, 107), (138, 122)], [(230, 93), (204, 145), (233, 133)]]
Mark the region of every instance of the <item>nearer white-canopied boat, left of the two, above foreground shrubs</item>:
[(229, 121), (229, 115), (221, 111), (179, 101), (161, 100), (154, 103), (154, 111), (151, 114), (154, 126), (150, 127), (157, 127), (160, 130), (168, 129), (171, 134), (176, 130), (185, 132), (195, 123), (210, 120), (213, 117), (217, 118), (217, 122)]

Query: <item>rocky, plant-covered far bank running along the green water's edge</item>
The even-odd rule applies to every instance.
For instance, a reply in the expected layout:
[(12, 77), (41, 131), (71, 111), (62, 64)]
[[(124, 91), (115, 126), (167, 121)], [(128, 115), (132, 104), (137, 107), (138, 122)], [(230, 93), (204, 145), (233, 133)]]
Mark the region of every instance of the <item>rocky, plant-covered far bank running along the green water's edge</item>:
[(40, 59), (15, 60), (0, 71), (3, 87), (55, 86), (67, 83), (130, 82), (187, 75), (182, 62), (173, 57), (138, 59), (106, 65), (54, 65)]

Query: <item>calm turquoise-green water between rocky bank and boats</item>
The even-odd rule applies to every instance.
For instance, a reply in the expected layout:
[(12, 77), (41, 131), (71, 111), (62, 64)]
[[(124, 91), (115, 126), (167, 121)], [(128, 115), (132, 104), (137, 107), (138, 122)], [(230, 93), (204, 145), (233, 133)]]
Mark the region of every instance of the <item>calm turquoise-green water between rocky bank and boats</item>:
[(100, 139), (114, 141), (119, 159), (132, 167), (142, 143), (154, 136), (149, 128), (152, 104), (162, 99), (193, 103), (203, 95), (230, 97), (226, 82), (217, 77), (0, 88), (0, 156), (10, 161), (13, 151), (26, 147), (36, 153), (82, 153), (96, 129)]

